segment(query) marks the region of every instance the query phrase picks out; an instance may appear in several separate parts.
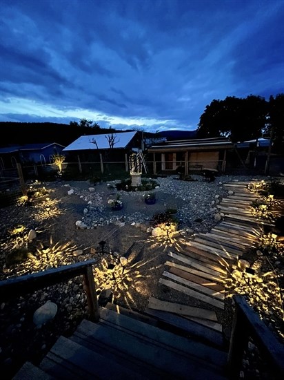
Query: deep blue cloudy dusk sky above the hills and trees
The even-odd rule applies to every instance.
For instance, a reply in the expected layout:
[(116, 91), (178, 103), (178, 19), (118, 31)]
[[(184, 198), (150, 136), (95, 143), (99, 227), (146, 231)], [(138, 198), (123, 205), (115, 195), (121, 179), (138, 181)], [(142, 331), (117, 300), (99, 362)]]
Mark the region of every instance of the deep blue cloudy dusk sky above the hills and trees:
[(284, 92), (284, 0), (1, 0), (0, 121), (194, 130)]

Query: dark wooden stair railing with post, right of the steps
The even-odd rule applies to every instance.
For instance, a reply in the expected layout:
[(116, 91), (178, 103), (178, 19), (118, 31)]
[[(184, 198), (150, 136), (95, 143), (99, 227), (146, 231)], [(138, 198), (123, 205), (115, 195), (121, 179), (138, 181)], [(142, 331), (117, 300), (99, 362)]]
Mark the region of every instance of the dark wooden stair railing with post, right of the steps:
[(239, 379), (243, 352), (252, 336), (258, 350), (263, 354), (276, 379), (284, 379), (284, 345), (254, 312), (240, 295), (233, 296), (235, 303), (234, 321), (228, 354), (228, 368), (232, 379)]

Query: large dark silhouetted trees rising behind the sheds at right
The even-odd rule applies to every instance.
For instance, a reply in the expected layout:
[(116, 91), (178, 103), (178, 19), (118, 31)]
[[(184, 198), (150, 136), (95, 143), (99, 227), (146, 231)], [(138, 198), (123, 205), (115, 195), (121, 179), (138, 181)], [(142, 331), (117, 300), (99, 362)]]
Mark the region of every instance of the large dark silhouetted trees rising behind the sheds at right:
[(197, 135), (229, 137), (232, 142), (272, 137), (274, 146), (284, 146), (284, 93), (264, 97), (214, 99), (200, 117)]

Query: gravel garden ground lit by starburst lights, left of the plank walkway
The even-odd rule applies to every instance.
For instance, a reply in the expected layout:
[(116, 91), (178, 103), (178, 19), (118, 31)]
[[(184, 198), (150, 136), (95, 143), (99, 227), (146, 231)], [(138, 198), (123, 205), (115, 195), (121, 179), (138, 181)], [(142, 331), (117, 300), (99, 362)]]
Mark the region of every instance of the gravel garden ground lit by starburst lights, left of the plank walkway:
[[(94, 274), (102, 302), (103, 291), (111, 288), (112, 301), (136, 311), (145, 310), (150, 296), (208, 308), (207, 304), (196, 303), (195, 299), (159, 284), (168, 251), (174, 249), (176, 241), (153, 238), (148, 229), (150, 220), (155, 213), (176, 207), (179, 239), (210, 231), (216, 225), (216, 204), (227, 196), (223, 184), (253, 178), (221, 176), (214, 182), (203, 182), (200, 176), (193, 178), (191, 182), (174, 176), (157, 178), (155, 205), (145, 205), (139, 191), (120, 191), (121, 211), (108, 207), (108, 199), (116, 195), (115, 182), (95, 187), (89, 182), (34, 184), (38, 188), (45, 186), (47, 196), (30, 207), (0, 209), (1, 279), (96, 258)], [(68, 195), (70, 190), (73, 192)], [(79, 220), (86, 228), (76, 228)], [(28, 242), (30, 229), (37, 234), (32, 242)], [(101, 240), (106, 242), (104, 251), (99, 245)], [(26, 247), (26, 260), (22, 263), (13, 261), (15, 246)], [(123, 257), (127, 265), (121, 264)], [(115, 272), (110, 268), (116, 268)], [(56, 303), (58, 312), (52, 321), (37, 328), (32, 316), (46, 301)], [(232, 305), (225, 312), (216, 313), (219, 322), (230, 328)], [(58, 336), (70, 336), (86, 316), (81, 278), (1, 303), (0, 366), (8, 373), (7, 379), (24, 361), (39, 363)]]

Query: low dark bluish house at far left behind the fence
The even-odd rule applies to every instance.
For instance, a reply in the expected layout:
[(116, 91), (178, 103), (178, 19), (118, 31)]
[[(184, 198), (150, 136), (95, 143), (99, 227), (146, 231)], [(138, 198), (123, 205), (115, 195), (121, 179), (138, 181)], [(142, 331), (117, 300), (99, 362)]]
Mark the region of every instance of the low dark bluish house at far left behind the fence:
[(52, 155), (60, 154), (64, 146), (57, 142), (24, 144), (0, 148), (0, 169), (15, 168), (17, 163), (51, 164)]

